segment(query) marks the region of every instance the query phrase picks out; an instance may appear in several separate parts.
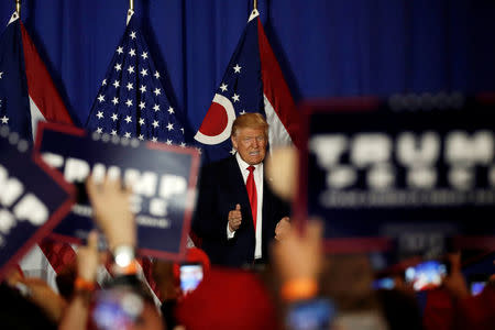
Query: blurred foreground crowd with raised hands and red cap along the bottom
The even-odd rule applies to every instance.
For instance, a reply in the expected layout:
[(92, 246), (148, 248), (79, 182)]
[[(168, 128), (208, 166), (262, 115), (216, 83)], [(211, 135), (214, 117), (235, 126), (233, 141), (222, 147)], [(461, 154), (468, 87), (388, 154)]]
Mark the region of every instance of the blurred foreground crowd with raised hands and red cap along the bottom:
[[(190, 248), (188, 264), (202, 268), (196, 289), (180, 287), (173, 262), (154, 261), (150, 285), (139, 257), (122, 248), (136, 246), (130, 191), (109, 178), (89, 178), (87, 190), (112, 253), (99, 251), (92, 232), (58, 274), (58, 293), (12, 270), (0, 286), (1, 329), (495, 329), (493, 277), (473, 296), (459, 254), (450, 256), (449, 274), (427, 292), (420, 309), (400, 276), (393, 289), (374, 289), (366, 256), (326, 256), (317, 221), (274, 243), (267, 265), (219, 268)], [(101, 267), (111, 280), (96, 280)]]

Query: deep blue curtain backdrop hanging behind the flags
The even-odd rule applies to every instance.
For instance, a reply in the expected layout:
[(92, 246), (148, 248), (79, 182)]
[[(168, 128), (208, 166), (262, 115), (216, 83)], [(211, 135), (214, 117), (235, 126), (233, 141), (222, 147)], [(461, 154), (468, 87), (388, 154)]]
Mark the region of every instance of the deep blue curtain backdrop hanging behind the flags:
[[(22, 19), (79, 123), (124, 30), (128, 0), (23, 0)], [(156, 66), (199, 128), (252, 0), (135, 0)], [(0, 2), (8, 23), (14, 0)], [(334, 96), (495, 90), (491, 0), (260, 0), (296, 101)]]

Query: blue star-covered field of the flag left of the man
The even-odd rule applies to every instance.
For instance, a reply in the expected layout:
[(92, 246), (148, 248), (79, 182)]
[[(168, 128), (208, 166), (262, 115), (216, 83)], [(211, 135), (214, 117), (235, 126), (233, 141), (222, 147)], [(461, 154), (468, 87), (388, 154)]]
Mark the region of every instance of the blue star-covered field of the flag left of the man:
[(185, 146), (184, 127), (161, 78), (131, 18), (92, 105), (87, 130)]

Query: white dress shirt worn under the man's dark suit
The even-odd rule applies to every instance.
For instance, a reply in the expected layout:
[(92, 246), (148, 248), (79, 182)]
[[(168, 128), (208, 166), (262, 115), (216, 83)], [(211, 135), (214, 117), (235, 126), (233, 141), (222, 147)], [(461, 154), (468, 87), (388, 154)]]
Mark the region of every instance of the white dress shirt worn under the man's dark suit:
[[(250, 175), (250, 170), (248, 167), (250, 167), (250, 164), (244, 162), (241, 158), (241, 155), (239, 153), (235, 154), (235, 160), (238, 161), (239, 168), (242, 173), (242, 178), (244, 179), (244, 185), (248, 180), (248, 175)], [(256, 197), (257, 197), (257, 209), (256, 209), (256, 243), (254, 248), (254, 258), (262, 257), (262, 246), (261, 246), (261, 234), (262, 234), (262, 223), (263, 223), (263, 163), (253, 165), (253, 176), (254, 176), (254, 184), (256, 185)], [(251, 211), (251, 210), (250, 210)], [(242, 221), (245, 221), (245, 219), (242, 219)], [(229, 222), (227, 222), (227, 238), (230, 240), (234, 238), (235, 231), (231, 231), (229, 228)]]

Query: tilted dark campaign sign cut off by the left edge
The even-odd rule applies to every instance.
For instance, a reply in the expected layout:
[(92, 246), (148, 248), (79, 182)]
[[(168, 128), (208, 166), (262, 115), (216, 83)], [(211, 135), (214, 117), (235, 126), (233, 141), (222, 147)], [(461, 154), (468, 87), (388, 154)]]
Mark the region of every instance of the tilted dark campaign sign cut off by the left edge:
[(74, 202), (74, 187), (33, 157), (29, 143), (0, 129), (0, 279), (47, 235)]

